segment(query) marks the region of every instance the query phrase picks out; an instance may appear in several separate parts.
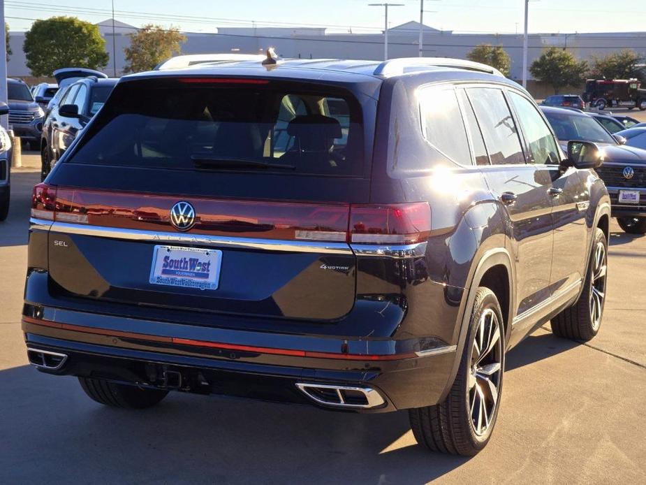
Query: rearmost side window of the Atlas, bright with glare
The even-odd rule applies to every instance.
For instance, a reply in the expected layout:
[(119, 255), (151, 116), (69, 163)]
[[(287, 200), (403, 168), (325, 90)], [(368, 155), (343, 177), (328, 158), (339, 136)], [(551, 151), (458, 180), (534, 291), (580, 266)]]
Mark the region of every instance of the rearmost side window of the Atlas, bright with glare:
[(420, 89), (420, 119), (424, 138), (445, 157), (471, 165), (467, 130), (453, 86)]

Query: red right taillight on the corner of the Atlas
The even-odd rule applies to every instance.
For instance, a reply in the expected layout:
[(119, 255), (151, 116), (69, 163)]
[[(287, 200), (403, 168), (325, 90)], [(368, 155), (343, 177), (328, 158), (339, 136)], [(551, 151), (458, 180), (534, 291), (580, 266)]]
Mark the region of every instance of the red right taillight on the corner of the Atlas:
[(351, 205), (350, 243), (409, 245), (428, 239), (431, 208), (416, 202), (388, 205)]

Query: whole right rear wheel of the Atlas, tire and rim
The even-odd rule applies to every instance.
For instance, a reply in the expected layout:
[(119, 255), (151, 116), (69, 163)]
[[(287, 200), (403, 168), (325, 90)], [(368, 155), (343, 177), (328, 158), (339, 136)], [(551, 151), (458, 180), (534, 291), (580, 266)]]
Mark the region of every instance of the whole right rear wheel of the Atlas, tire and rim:
[[(478, 332), (480, 326), (483, 333)], [(432, 451), (463, 456), (473, 456), (487, 445), (500, 407), (504, 335), (496, 295), (488, 288), (478, 288), (460, 368), (448, 396), (443, 403), (409, 410), (413, 435), (419, 444)], [(476, 339), (480, 347), (487, 348), (484, 355), (478, 354)], [(480, 372), (474, 370), (474, 365)], [(483, 404), (485, 414), (480, 414)]]

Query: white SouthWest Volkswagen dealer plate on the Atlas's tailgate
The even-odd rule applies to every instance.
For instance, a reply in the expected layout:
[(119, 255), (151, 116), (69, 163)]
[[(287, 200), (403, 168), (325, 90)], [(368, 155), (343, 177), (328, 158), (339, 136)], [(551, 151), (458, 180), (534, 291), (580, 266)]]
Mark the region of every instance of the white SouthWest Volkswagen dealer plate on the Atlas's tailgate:
[(222, 252), (156, 245), (152, 254), (150, 283), (170, 287), (217, 289)]

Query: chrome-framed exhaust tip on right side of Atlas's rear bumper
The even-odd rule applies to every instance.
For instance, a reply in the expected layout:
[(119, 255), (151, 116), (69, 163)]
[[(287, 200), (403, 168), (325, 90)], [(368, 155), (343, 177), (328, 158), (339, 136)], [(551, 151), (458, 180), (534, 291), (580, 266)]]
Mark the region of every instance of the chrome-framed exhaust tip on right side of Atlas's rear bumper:
[(296, 387), (318, 404), (345, 409), (369, 409), (386, 404), (381, 394), (370, 387), (335, 386), (297, 382)]

